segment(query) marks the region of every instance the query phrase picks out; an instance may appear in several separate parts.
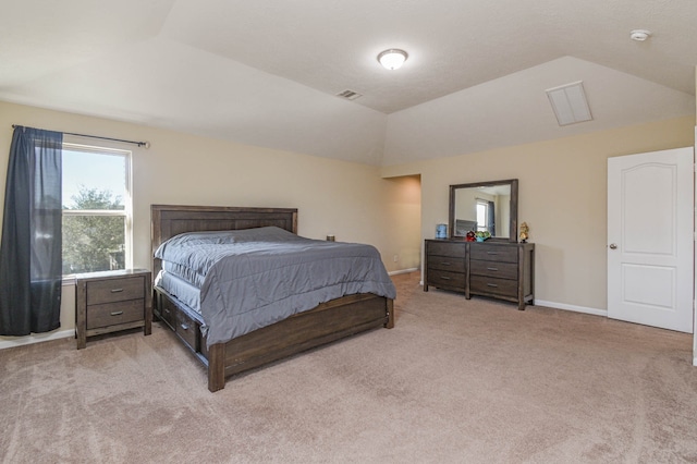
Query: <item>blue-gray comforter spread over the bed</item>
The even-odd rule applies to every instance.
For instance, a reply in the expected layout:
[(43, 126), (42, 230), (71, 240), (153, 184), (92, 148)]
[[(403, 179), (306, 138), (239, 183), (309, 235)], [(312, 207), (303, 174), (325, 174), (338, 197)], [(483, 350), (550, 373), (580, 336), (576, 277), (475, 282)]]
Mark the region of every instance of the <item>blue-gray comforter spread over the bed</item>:
[(185, 233), (162, 243), (155, 256), (200, 288), (208, 345), (341, 296), (396, 296), (374, 246), (310, 240), (274, 227)]

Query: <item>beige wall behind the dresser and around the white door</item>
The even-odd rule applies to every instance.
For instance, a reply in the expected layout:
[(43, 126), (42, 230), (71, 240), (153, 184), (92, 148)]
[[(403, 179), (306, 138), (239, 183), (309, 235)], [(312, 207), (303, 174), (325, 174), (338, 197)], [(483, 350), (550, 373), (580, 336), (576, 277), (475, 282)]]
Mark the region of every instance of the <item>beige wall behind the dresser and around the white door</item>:
[(449, 185), (519, 180), (518, 221), (536, 243), (536, 300), (580, 310), (607, 308), (607, 159), (694, 146), (695, 118), (384, 167), (421, 175), (421, 236), (448, 222)]

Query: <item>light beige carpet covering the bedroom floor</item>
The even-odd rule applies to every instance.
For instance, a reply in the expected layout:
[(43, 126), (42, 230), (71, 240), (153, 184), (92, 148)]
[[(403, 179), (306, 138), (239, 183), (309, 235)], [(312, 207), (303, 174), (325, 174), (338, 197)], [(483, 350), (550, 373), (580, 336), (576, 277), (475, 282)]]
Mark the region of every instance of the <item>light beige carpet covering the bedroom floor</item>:
[(396, 326), (229, 379), (154, 325), (0, 351), (0, 456), (77, 462), (697, 462), (692, 335), (425, 293)]

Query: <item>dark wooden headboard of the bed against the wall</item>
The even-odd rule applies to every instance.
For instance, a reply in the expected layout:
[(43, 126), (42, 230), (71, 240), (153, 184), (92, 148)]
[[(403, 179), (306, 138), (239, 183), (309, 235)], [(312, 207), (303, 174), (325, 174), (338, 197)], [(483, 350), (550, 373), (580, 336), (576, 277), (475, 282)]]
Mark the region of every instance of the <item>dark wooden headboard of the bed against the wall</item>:
[[(245, 208), (231, 206), (150, 206), (150, 253), (168, 239), (184, 232), (255, 229), (276, 225), (297, 233), (297, 208)], [(152, 261), (152, 278), (160, 271)]]

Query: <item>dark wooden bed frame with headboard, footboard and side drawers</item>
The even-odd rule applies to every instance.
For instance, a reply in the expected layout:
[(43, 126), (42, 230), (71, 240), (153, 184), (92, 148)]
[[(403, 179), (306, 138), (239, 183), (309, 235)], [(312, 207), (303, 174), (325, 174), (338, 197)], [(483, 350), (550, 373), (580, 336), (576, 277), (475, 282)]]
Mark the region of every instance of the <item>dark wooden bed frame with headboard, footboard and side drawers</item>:
[[(151, 205), (152, 252), (184, 232), (254, 229), (276, 225), (297, 233), (297, 209)], [(154, 258), (152, 277), (161, 269)], [(293, 354), (378, 327), (394, 327), (393, 302), (372, 294), (322, 303), (272, 326), (210, 347), (201, 334), (200, 315), (156, 288), (154, 313), (208, 368), (208, 390), (225, 387), (225, 378)]]

